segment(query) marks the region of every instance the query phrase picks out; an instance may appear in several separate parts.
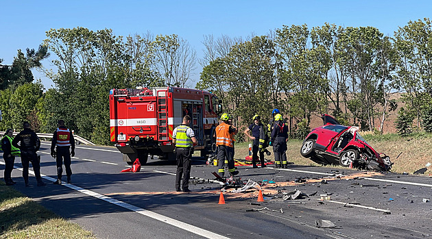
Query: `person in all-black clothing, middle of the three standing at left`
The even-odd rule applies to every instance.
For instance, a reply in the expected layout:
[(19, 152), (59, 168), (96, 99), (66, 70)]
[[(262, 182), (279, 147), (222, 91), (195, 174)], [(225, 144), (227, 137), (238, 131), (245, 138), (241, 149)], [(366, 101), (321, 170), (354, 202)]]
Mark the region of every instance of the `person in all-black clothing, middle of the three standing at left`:
[[(38, 181), (38, 186), (45, 186), (45, 183), (40, 177), (40, 162), (36, 151), (40, 148), (40, 140), (36, 133), (30, 129), (30, 124), (25, 121), (23, 123), (23, 131), (16, 135), (12, 140), (12, 146), (21, 150), (21, 164), (23, 164), (23, 178), (25, 186), (29, 184), (29, 163), (32, 162), (34, 176)], [(20, 143), (18, 145), (18, 142)]]

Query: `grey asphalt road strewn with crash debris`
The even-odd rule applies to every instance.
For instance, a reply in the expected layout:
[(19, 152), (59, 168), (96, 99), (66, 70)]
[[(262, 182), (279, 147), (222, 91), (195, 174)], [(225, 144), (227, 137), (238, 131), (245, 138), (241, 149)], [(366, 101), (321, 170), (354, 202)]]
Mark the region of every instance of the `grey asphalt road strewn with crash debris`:
[[(45, 187), (25, 188), (16, 159), (14, 186), (98, 238), (429, 238), (432, 236), (432, 181), (429, 177), (376, 174), (350, 169), (291, 165), (287, 169), (239, 166), (243, 180), (275, 181), (256, 190), (224, 192), (213, 181), (191, 184), (191, 193), (175, 192), (173, 162), (149, 160), (139, 173), (128, 168), (111, 147), (79, 145), (72, 162), (72, 184), (53, 185), (56, 162), (43, 143), (39, 154)], [(271, 156), (270, 156), (271, 157)], [(300, 157), (300, 154), (299, 154)], [(236, 155), (236, 158), (241, 158)], [(215, 166), (194, 158), (191, 177), (214, 179)], [(31, 170), (32, 168), (30, 168)], [(0, 160), (0, 175), (4, 164)], [(64, 180), (66, 177), (64, 176)], [(303, 183), (295, 183), (305, 179)], [(325, 179), (326, 181), (322, 181)], [(300, 180), (302, 181), (302, 180)], [(200, 181), (202, 182), (202, 181)], [(301, 190), (304, 199), (283, 200), (283, 192)], [(279, 190), (279, 193), (278, 193)], [(321, 201), (328, 194), (329, 201)], [(276, 197), (275, 197), (276, 196)], [(317, 227), (320, 220), (335, 227)]]

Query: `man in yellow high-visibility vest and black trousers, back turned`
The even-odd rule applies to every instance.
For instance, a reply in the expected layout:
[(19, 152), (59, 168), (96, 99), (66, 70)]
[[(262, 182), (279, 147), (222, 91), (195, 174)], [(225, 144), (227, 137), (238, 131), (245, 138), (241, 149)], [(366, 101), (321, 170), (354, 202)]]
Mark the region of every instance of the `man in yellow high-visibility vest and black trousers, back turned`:
[(180, 126), (173, 130), (173, 144), (176, 146), (176, 191), (180, 192), (180, 179), (182, 179), (183, 192), (191, 192), (189, 190), (189, 178), (191, 177), (191, 158), (193, 154), (193, 146), (197, 144), (195, 133), (189, 127), (191, 116), (183, 117), (183, 122)]

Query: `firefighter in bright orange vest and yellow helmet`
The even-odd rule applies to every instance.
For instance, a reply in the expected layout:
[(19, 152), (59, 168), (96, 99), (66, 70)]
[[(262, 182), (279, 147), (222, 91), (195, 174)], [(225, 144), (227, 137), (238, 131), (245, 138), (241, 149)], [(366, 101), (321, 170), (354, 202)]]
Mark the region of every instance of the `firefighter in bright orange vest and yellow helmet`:
[(234, 142), (232, 137), (237, 134), (237, 129), (228, 124), (230, 116), (222, 114), (221, 123), (216, 127), (216, 145), (217, 145), (217, 160), (219, 160), (219, 176), (225, 175), (225, 161), (228, 160), (228, 172), (230, 175), (237, 175), (239, 171), (235, 170), (234, 166)]

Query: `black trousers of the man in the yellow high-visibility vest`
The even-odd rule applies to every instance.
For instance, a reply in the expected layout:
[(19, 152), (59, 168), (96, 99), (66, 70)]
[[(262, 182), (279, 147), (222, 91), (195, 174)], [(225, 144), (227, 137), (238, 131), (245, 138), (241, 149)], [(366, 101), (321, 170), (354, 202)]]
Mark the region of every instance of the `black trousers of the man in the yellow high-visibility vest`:
[[(180, 180), (182, 181), (183, 190), (189, 189), (189, 178), (191, 177), (191, 147), (176, 147), (177, 173), (176, 189), (180, 189)], [(183, 177), (183, 178), (182, 178)]]

